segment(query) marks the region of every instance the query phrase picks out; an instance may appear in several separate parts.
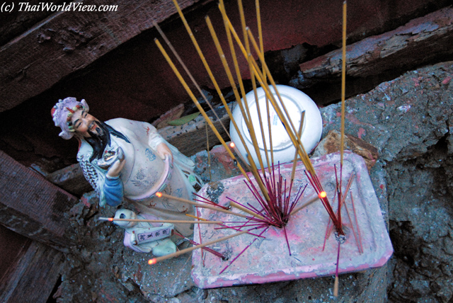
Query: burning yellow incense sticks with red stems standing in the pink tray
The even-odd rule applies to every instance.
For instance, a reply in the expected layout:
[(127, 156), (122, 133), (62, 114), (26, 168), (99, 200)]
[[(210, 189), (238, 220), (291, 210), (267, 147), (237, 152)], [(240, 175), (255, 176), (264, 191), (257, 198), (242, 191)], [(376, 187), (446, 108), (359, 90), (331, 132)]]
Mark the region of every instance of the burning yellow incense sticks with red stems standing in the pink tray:
[[(228, 47), (229, 47), (229, 55), (231, 56), (231, 62), (233, 62), (233, 66), (229, 67), (228, 60), (226, 59), (226, 54), (224, 50), (222, 49), (221, 43), (219, 39), (217, 38), (217, 33), (214, 30), (214, 27), (212, 26), (212, 23), (210, 21), (209, 17), (206, 17), (206, 23), (207, 27), (210, 30), (210, 34), (212, 36), (212, 40), (214, 42), (214, 45), (216, 47), (216, 50), (219, 55), (219, 59), (222, 62), (222, 65), (224, 67), (224, 71), (226, 73), (227, 78), (229, 79), (229, 83), (231, 84), (231, 88), (233, 90), (234, 96), (236, 98), (236, 103), (239, 109), (241, 110), (241, 114), (243, 117), (243, 122), (245, 123), (246, 127), (248, 128), (249, 132), (249, 137), (252, 141), (253, 148), (248, 149), (247, 145), (245, 143), (245, 139), (243, 135), (241, 134), (241, 131), (239, 130), (239, 121), (236, 121), (231, 113), (231, 110), (229, 108), (229, 105), (226, 103), (225, 98), (222, 94), (221, 89), (219, 88), (219, 84), (217, 83), (214, 74), (212, 73), (212, 70), (210, 69), (209, 65), (207, 64), (207, 60), (205, 59), (205, 56), (202, 54), (202, 50), (200, 50), (200, 46), (197, 43), (197, 40), (195, 39), (195, 35), (193, 35), (192, 30), (190, 29), (188, 22), (185, 20), (185, 17), (183, 16), (183, 13), (178, 6), (178, 3), (176, 0), (173, 0), (173, 4), (176, 7), (176, 10), (178, 11), (178, 14), (183, 21), (183, 24), (188, 32), (188, 35), (190, 36), (190, 39), (193, 42), (193, 45), (195, 46), (195, 49), (197, 50), (197, 54), (199, 55), (200, 59), (202, 60), (202, 63), (207, 71), (207, 74), (210, 76), (210, 79), (212, 81), (212, 84), (214, 88), (216, 89), (217, 93), (219, 94), (219, 97), (224, 105), (224, 108), (226, 109), (226, 113), (228, 113), (229, 118), (231, 119), (231, 125), (235, 128), (236, 132), (239, 135), (239, 140), (243, 144), (243, 146), (246, 148), (246, 159), (248, 159), (249, 166), (248, 170), (251, 172), (251, 174), (254, 177), (254, 183), (251, 181), (251, 178), (249, 178), (248, 173), (246, 173), (245, 169), (237, 162), (236, 157), (234, 154), (231, 152), (229, 147), (226, 145), (226, 142), (224, 142), (224, 139), (222, 138), (221, 135), (219, 135), (219, 132), (217, 131), (215, 125), (212, 123), (210, 118), (207, 116), (205, 113), (205, 110), (201, 107), (200, 103), (197, 101), (197, 98), (193, 94), (193, 92), (190, 90), (190, 87), (188, 84), (185, 82), (183, 79), (183, 76), (180, 74), (178, 69), (176, 68), (175, 64), (173, 64), (171, 58), (168, 56), (166, 50), (164, 47), (161, 45), (159, 40), (155, 39), (157, 47), (159, 47), (159, 50), (161, 50), (162, 54), (164, 55), (164, 58), (170, 65), (171, 69), (173, 72), (176, 74), (178, 79), (180, 80), (180, 83), (183, 85), (185, 90), (187, 91), (188, 95), (190, 98), (193, 100), (195, 105), (197, 106), (198, 110), (200, 110), (200, 113), (203, 115), (205, 118), (207, 125), (209, 125), (214, 132), (214, 135), (217, 136), (219, 141), (222, 143), (226, 151), (228, 152), (229, 156), (231, 156), (231, 159), (235, 160), (238, 164), (238, 168), (241, 171), (246, 185), (248, 186), (248, 189), (251, 190), (253, 193), (254, 197), (258, 201), (259, 207), (254, 207), (252, 205), (242, 205), (239, 202), (236, 202), (234, 200), (231, 200), (231, 207), (235, 207), (236, 209), (239, 209), (243, 212), (246, 212), (248, 215), (242, 215), (236, 212), (231, 212), (230, 210), (225, 210), (220, 207), (214, 206), (214, 205), (207, 205), (207, 204), (200, 204), (197, 202), (192, 202), (172, 196), (165, 195), (164, 193), (157, 193), (156, 195), (158, 197), (163, 197), (163, 198), (170, 198), (173, 200), (179, 200), (180, 202), (186, 202), (190, 203), (191, 205), (195, 205), (196, 207), (204, 207), (204, 208), (209, 208), (211, 210), (215, 210), (218, 212), (224, 212), (228, 215), (234, 215), (234, 216), (239, 216), (243, 217), (245, 219), (248, 219), (247, 222), (244, 222), (244, 224), (239, 227), (251, 227), (252, 225), (257, 226), (255, 228), (266, 228), (267, 230), (270, 225), (274, 225), (276, 227), (282, 227), (285, 231), (285, 236), (286, 236), (286, 230), (285, 230), (285, 225), (287, 223), (287, 220), (291, 215), (294, 215), (295, 213), (299, 212), (299, 210), (302, 210), (304, 207), (311, 205), (311, 203), (316, 202), (317, 200), (321, 200), (321, 203), (323, 204), (323, 207), (326, 209), (326, 212), (328, 213), (328, 216), (330, 217), (330, 221), (328, 222), (328, 227), (326, 234), (329, 231), (329, 224), (332, 222), (332, 226), (335, 227), (336, 232), (340, 235), (344, 235), (343, 229), (342, 229), (342, 220), (341, 220), (341, 208), (343, 205), (345, 205), (345, 198), (347, 197), (348, 190), (351, 186), (351, 181), (352, 181), (352, 176), (350, 177), (350, 181), (348, 182), (348, 185), (346, 186), (345, 190), (345, 195), (343, 195), (343, 188), (342, 188), (342, 170), (343, 170), (343, 136), (344, 136), (344, 114), (345, 114), (345, 50), (346, 50), (346, 2), (343, 3), (343, 62), (342, 62), (342, 120), (341, 120), (341, 132), (342, 132), (342, 137), (341, 137), (341, 147), (340, 147), (340, 178), (339, 182), (337, 180), (337, 190), (334, 196), (338, 198), (338, 207), (337, 210), (333, 210), (333, 205), (331, 205), (331, 202), (328, 200), (328, 195), (325, 190), (323, 190), (323, 185), (319, 181), (318, 176), (316, 175), (316, 171), (314, 170), (313, 164), (311, 164), (311, 161), (309, 159), (309, 155), (307, 154), (306, 150), (304, 149), (304, 145), (302, 144), (301, 136), (302, 136), (302, 127), (304, 125), (304, 112), (302, 112), (302, 117), (301, 117), (301, 122), (299, 124), (299, 127), (296, 127), (294, 125), (294, 122), (289, 118), (289, 113), (288, 110), (285, 106), (285, 103), (282, 101), (282, 96), (280, 96), (280, 93), (277, 90), (277, 85), (275, 83), (275, 80), (273, 79), (272, 75), (270, 74), (270, 70), (268, 68), (268, 65), (265, 63), (265, 58), (264, 58), (264, 47), (263, 47), (263, 34), (262, 34), (262, 28), (261, 28), (261, 23), (260, 23), (260, 7), (259, 7), (259, 1), (256, 0), (256, 14), (257, 14), (257, 22), (258, 22), (258, 41), (259, 45), (256, 41), (256, 39), (253, 36), (253, 33), (251, 33), (250, 28), (246, 25), (246, 18), (245, 14), (243, 11), (243, 6), (241, 0), (238, 0), (238, 7), (239, 7), (239, 16), (241, 20), (241, 32), (243, 37), (239, 38), (239, 35), (236, 33), (236, 30), (234, 29), (234, 26), (231, 24), (228, 16), (226, 15), (226, 10), (224, 6), (224, 1), (219, 0), (219, 11), (222, 13), (222, 19), (224, 21), (224, 29), (226, 30), (226, 40), (228, 42)], [(178, 62), (180, 62), (181, 66), (185, 70), (185, 73), (188, 74), (189, 78), (193, 82), (194, 86), (197, 88), (197, 90), (200, 92), (202, 98), (205, 99), (205, 101), (210, 105), (209, 101), (207, 101), (207, 98), (204, 96), (202, 93), (200, 86), (196, 83), (195, 79), (193, 79), (193, 76), (190, 74), (188, 71), (187, 67), (183, 63), (183, 60), (180, 58), (180, 56), (176, 53), (176, 50), (174, 50), (173, 46), (171, 45), (171, 42), (168, 41), (166, 38), (165, 34), (161, 31), (159, 28), (159, 25), (154, 23), (154, 26), (159, 30), (159, 33), (161, 34), (162, 38), (166, 41), (166, 44), (168, 47), (171, 49), (171, 52), (173, 52), (173, 55), (178, 59)], [(235, 44), (236, 43), (236, 44)], [(265, 149), (265, 159), (262, 159), (261, 153), (260, 153), (260, 147), (258, 147), (258, 140), (256, 137), (256, 130), (255, 130), (255, 125), (253, 125), (252, 120), (251, 120), (251, 110), (248, 106), (248, 100), (246, 98), (246, 91), (243, 85), (243, 76), (241, 76), (240, 68), (239, 68), (239, 63), (238, 63), (238, 55), (236, 55), (236, 48), (239, 47), (239, 55), (242, 55), (243, 58), (246, 59), (247, 64), (248, 64), (248, 72), (249, 76), (251, 79), (251, 84), (253, 86), (253, 93), (255, 96), (256, 102), (256, 108), (257, 108), (257, 115), (258, 115), (258, 122), (259, 122), (259, 127), (260, 127), (260, 132), (262, 135), (262, 140), (263, 140), (263, 146)], [(258, 58), (258, 62), (254, 59), (253, 55)], [(258, 84), (261, 88), (263, 88), (263, 91), (265, 92), (265, 106), (266, 106), (266, 116), (262, 117), (261, 115), (261, 110), (260, 110), (260, 105), (258, 104), (258, 96), (257, 96), (257, 87)], [(239, 87), (239, 88), (238, 88)], [(289, 181), (289, 186), (287, 187), (286, 180), (282, 179), (282, 176), (280, 175), (280, 164), (275, 165), (274, 163), (274, 154), (273, 154), (273, 138), (272, 138), (272, 132), (271, 132), (271, 123), (270, 121), (270, 109), (271, 106), (273, 110), (275, 110), (275, 113), (277, 114), (277, 117), (280, 119), (282, 125), (285, 126), (285, 130), (287, 132), (287, 135), (289, 139), (291, 140), (292, 144), (295, 147), (295, 154), (294, 154), (294, 161), (292, 161), (292, 174), (291, 178)], [(210, 105), (212, 108), (212, 106)], [(218, 117), (217, 117), (218, 118)], [(268, 122), (268, 134), (269, 138), (268, 141), (265, 138), (264, 135), (264, 127), (263, 123), (265, 122), (265, 119), (267, 119)], [(219, 120), (219, 119), (218, 119)], [(224, 127), (224, 125), (222, 125)], [(226, 130), (224, 127), (224, 130), (226, 134), (229, 136), (229, 132)], [(231, 137), (230, 137), (231, 139)], [(231, 142), (231, 145), (233, 145), (234, 142)], [(270, 154), (268, 154), (268, 147), (270, 149)], [(234, 147), (231, 147), (234, 148)], [(236, 149), (235, 149), (236, 150)], [(258, 163), (256, 164), (255, 161), (253, 161), (252, 153), (255, 153), (257, 156), (257, 161)], [(297, 166), (297, 161), (301, 160), (302, 163), (304, 164), (306, 168), (306, 177), (309, 180), (309, 183), (313, 186), (316, 196), (313, 198), (310, 198), (308, 201), (305, 201), (301, 205), (297, 205), (299, 198), (302, 197), (302, 193), (304, 192), (304, 189), (302, 190), (302, 187), (297, 190), (297, 193), (294, 195), (294, 199), (292, 202), (290, 202), (290, 198), (292, 197), (292, 187), (294, 185), (294, 174), (295, 174), (295, 168)], [(264, 163), (267, 164), (267, 166), (264, 165)], [(258, 165), (260, 168), (258, 168)], [(267, 167), (267, 171), (265, 171), (264, 167)], [(289, 189), (288, 189), (289, 188)], [(207, 199), (206, 199), (207, 200)], [(202, 200), (199, 200), (200, 202), (205, 202)], [(209, 201), (208, 201), (209, 202)], [(211, 204), (211, 203), (210, 203)], [(353, 204), (352, 204), (352, 207)], [(348, 211), (348, 209), (346, 208)], [(355, 212), (355, 210), (354, 210)], [(349, 213), (348, 213), (349, 216)], [(208, 221), (205, 219), (202, 219), (200, 217), (195, 217), (199, 219), (199, 221), (196, 221), (195, 223), (197, 224), (206, 224)], [(351, 221), (351, 220), (350, 220)], [(352, 222), (352, 221), (351, 221)], [(357, 222), (357, 217), (356, 217), (356, 222)], [(212, 222), (212, 223), (217, 223), (217, 224), (223, 224), (225, 222)], [(229, 227), (229, 228), (234, 228), (236, 227)], [(208, 246), (213, 243), (217, 243), (217, 241), (224, 241), (226, 239), (230, 239), (233, 236), (239, 236), (241, 234), (245, 234), (248, 231), (240, 231), (237, 234), (231, 235), (231, 236), (226, 236), (222, 239), (216, 240), (216, 241), (210, 241), (205, 244), (200, 244), (197, 246), (194, 246), (192, 248), (185, 249), (183, 251), (178, 251), (178, 253), (175, 253), (173, 255), (165, 256), (165, 257), (160, 257), (160, 258), (154, 258), (149, 261), (150, 264), (154, 264), (158, 261), (165, 260), (166, 258), (171, 258), (173, 256), (178, 256), (181, 253), (185, 253), (188, 251), (193, 251), (196, 248), (201, 248), (204, 246)], [(263, 230), (264, 232), (264, 230)], [(357, 227), (357, 233), (359, 234), (359, 240), (356, 239), (357, 244), (360, 242), (360, 231)], [(201, 237), (200, 237), (201, 239)], [(289, 243), (288, 243), (288, 248), (289, 248)], [(340, 244), (338, 244), (338, 258), (340, 256)], [(338, 264), (337, 264), (338, 265)], [(337, 270), (337, 278), (336, 278), (336, 283), (335, 283), (335, 295), (338, 295), (338, 270)]]

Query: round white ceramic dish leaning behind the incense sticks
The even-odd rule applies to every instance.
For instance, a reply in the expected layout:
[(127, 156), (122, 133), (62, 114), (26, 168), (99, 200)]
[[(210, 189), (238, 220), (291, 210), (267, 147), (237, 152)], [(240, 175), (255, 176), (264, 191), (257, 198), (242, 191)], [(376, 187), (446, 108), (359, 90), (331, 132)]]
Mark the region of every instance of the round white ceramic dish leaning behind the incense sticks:
[[(280, 93), (280, 96), (282, 97), (282, 101), (285, 104), (285, 107), (287, 108), (289, 119), (291, 119), (292, 122), (294, 123), (294, 127), (296, 127), (296, 130), (299, 130), (302, 111), (305, 110), (305, 118), (304, 125), (302, 128), (301, 139), (305, 151), (309, 153), (312, 149), (314, 149), (314, 147), (316, 147), (316, 144), (318, 144), (319, 140), (321, 139), (321, 134), (323, 130), (323, 122), (318, 106), (316, 105), (316, 103), (314, 103), (313, 100), (311, 100), (309, 96), (306, 96), (305, 93), (302, 93), (302, 91), (299, 91), (298, 89), (293, 88), (291, 86), (277, 85), (277, 90)], [(273, 91), (273, 95), (275, 96), (275, 99), (278, 102), (277, 94), (275, 93), (272, 87), (271, 91)], [(257, 95), (261, 119), (263, 121), (263, 133), (265, 137), (266, 149), (268, 150), (268, 154), (270, 156), (270, 143), (269, 143), (270, 141), (268, 128), (269, 123), (266, 111), (265, 92), (263, 88), (257, 89)], [(256, 132), (256, 139), (258, 142), (258, 147), (260, 148), (261, 158), (263, 159), (263, 166), (268, 167), (265, 158), (265, 147), (264, 147), (265, 144), (263, 143), (263, 136), (261, 135), (257, 105), (255, 100), (255, 94), (253, 93), (253, 91), (250, 91), (249, 93), (246, 94), (246, 99), (248, 103), (248, 108), (250, 110), (253, 128)], [(273, 140), (274, 164), (277, 164), (278, 162), (282, 164), (288, 161), (292, 161), (294, 159), (296, 149), (292, 144), (291, 139), (289, 139), (285, 127), (280, 121), (280, 118), (278, 118), (277, 113), (275, 113), (275, 110), (271, 103), (269, 103), (269, 107), (270, 107), (271, 135)], [(285, 116), (286, 118), (288, 118), (287, 115)], [(251, 136), (248, 132), (246, 122), (243, 120), (243, 115), (241, 113), (239, 105), (236, 105), (236, 107), (234, 108), (233, 117), (234, 120), (236, 121), (236, 124), (238, 125), (239, 132), (241, 132), (244, 141), (246, 142), (248, 150), (252, 154), (253, 161), (256, 163), (256, 166), (260, 168), (258, 157), (256, 156), (255, 149), (253, 149)], [(233, 140), (234, 144), (236, 144), (238, 151), (241, 153), (241, 158), (243, 158), (243, 161), (246, 161), (246, 163), (248, 163), (246, 149), (243, 146), (241, 139), (239, 139), (238, 132), (236, 131), (236, 128), (234, 127), (232, 122), (230, 122), (229, 128), (231, 139)]]

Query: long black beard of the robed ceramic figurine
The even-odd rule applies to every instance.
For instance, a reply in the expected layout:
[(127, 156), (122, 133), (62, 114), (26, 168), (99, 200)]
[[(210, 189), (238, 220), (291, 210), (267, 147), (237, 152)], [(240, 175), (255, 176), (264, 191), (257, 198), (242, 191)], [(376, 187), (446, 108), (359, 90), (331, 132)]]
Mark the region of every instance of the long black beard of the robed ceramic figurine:
[(125, 140), (125, 142), (130, 143), (125, 135), (117, 132), (109, 125), (106, 125), (104, 122), (95, 121), (94, 123), (96, 124), (96, 132), (91, 132), (91, 130), (88, 130), (88, 134), (90, 134), (91, 137), (85, 138), (86, 142), (88, 142), (88, 144), (93, 147), (93, 154), (91, 155), (90, 162), (94, 159), (102, 158), (105, 147), (110, 145), (110, 135), (114, 135), (115, 137), (118, 137)]

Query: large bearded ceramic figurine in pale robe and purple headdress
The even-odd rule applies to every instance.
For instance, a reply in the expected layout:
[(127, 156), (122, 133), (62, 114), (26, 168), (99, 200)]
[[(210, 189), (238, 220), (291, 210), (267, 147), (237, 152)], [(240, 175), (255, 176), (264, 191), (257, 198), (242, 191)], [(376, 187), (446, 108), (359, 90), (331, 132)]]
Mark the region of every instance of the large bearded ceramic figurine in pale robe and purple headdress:
[[(165, 141), (147, 122), (117, 118), (101, 122), (88, 113), (85, 100), (65, 98), (52, 108), (55, 125), (63, 139), (79, 140), (77, 160), (85, 178), (99, 195), (100, 205), (132, 202), (141, 214), (161, 219), (191, 220), (193, 206), (167, 195), (192, 200), (201, 181), (195, 163)], [(191, 224), (175, 224), (183, 236), (193, 232)]]

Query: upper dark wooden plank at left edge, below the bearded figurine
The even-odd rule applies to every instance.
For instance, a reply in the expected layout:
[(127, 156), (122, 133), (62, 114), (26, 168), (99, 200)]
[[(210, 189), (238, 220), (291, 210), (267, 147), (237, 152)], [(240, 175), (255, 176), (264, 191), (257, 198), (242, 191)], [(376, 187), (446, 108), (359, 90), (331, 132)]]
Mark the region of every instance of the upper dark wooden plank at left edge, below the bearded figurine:
[(30, 239), (61, 251), (71, 244), (65, 236), (67, 212), (77, 198), (0, 151), (0, 223)]

